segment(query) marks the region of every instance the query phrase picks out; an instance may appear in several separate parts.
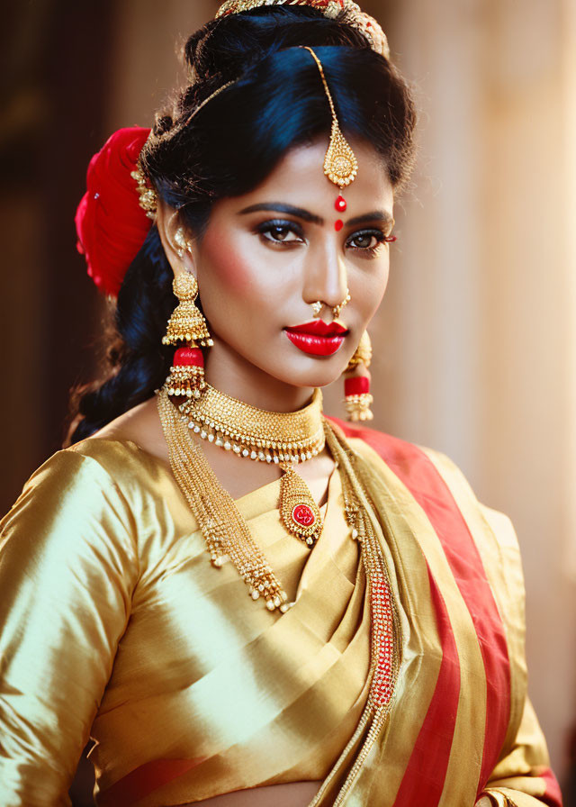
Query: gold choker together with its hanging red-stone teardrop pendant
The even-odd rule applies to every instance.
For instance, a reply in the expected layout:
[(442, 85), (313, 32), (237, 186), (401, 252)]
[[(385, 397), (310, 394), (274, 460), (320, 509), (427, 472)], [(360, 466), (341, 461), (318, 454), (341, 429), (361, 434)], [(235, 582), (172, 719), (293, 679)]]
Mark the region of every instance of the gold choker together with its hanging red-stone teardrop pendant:
[(178, 409), (184, 424), (202, 440), (239, 458), (282, 468), (280, 519), (286, 530), (312, 548), (322, 529), (320, 510), (294, 467), (324, 449), (320, 389), (314, 390), (308, 406), (284, 413), (258, 409), (207, 384), (201, 395), (180, 403)]

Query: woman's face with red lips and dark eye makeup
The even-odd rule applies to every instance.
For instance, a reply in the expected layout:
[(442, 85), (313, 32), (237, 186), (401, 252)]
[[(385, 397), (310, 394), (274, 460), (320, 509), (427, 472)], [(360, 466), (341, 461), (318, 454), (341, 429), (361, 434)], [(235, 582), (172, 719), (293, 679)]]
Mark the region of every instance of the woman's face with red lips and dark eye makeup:
[[(351, 145), (358, 174), (343, 192), (345, 212), (335, 207), (338, 186), (324, 176), (325, 138), (288, 151), (253, 191), (213, 206), (192, 249), (214, 340), (209, 368), (219, 356), (234, 357), (277, 381), (311, 387), (331, 383), (347, 367), (383, 298), (385, 238), (393, 225), (392, 185), (382, 158), (362, 141)], [(344, 222), (340, 230), (338, 220)], [(332, 308), (347, 289), (350, 302), (338, 317), (343, 339), (319, 343), (289, 330), (303, 325), (305, 331), (318, 319), (333, 322)], [(320, 317), (312, 308), (316, 301), (324, 304)]]

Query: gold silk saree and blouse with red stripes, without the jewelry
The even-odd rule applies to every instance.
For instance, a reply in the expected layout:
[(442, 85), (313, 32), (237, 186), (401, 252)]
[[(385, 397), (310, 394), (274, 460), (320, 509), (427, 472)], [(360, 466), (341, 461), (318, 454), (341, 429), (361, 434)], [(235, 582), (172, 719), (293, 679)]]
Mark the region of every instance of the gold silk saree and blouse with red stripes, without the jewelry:
[[(340, 424), (343, 426), (343, 424)], [(509, 521), (433, 452), (347, 429), (401, 627), (389, 719), (347, 807), (548, 804), (561, 796), (527, 701)], [(370, 611), (337, 468), (320, 540), (278, 516), (279, 482), (237, 501), (295, 604), (278, 616), (211, 567), (170, 468), (85, 440), (31, 477), (0, 543), (0, 803), (67, 804), (86, 740), (97, 803), (160, 807), (323, 780), (363, 740)]]

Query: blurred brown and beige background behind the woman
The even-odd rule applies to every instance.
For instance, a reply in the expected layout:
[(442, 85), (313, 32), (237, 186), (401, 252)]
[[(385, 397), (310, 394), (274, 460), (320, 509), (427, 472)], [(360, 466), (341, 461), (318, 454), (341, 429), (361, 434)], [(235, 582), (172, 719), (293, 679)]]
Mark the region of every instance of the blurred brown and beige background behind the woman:
[[(113, 130), (150, 124), (218, 5), (2, 2), (3, 512), (97, 368), (103, 301), (73, 222), (88, 160)], [(576, 0), (363, 7), (420, 110), (372, 329), (375, 426), (446, 452), (514, 521), (530, 694), (576, 804)]]

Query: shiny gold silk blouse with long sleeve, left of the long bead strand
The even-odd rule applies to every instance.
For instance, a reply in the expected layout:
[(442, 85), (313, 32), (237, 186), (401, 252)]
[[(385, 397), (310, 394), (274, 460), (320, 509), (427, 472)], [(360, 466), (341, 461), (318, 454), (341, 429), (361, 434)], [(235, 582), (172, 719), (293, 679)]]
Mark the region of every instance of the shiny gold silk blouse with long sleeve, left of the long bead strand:
[(367, 693), (363, 570), (338, 473), (313, 552), (285, 532), (279, 485), (237, 503), (297, 600), (280, 619), (211, 566), (170, 469), (134, 443), (85, 440), (31, 477), (3, 524), (0, 793), (66, 803), (89, 736), (99, 803), (130, 803), (130, 774), (177, 774), (142, 805), (328, 774)]

